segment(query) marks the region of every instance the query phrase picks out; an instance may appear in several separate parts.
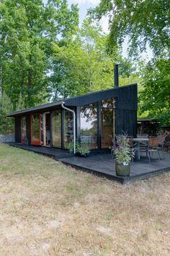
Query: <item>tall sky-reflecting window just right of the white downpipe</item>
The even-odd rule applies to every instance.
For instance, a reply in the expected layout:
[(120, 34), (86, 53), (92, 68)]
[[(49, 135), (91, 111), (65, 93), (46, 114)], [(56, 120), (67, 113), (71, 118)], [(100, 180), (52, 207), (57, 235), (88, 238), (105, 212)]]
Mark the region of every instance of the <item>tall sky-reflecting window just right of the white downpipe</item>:
[(97, 148), (97, 106), (81, 108), (81, 145), (89, 144), (89, 149)]

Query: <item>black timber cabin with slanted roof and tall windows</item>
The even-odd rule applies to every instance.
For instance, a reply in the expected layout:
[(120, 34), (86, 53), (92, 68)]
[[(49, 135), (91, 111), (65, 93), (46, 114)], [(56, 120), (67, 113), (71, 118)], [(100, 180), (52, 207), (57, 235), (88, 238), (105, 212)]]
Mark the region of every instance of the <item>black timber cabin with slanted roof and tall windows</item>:
[(109, 148), (115, 135), (122, 131), (136, 136), (137, 105), (134, 84), (66, 98), (7, 116), (15, 118), (16, 142), (65, 150), (76, 135), (82, 146), (87, 143), (90, 150), (101, 150)]

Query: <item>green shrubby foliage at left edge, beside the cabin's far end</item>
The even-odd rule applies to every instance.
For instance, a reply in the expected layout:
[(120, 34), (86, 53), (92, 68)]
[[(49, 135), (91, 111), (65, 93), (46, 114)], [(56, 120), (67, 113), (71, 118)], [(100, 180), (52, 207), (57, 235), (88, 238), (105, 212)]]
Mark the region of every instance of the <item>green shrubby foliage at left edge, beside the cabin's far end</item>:
[(6, 114), (13, 111), (10, 98), (6, 93), (0, 98), (0, 133), (8, 134), (14, 132), (14, 120), (6, 118)]

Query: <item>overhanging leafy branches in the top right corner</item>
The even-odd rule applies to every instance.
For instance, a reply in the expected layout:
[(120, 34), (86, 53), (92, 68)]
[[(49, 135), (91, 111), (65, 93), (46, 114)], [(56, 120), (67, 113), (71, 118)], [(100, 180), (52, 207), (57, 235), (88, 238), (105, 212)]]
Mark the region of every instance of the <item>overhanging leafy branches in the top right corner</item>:
[(169, 0), (101, 0), (91, 10), (94, 18), (109, 15), (110, 47), (122, 45), (126, 36), (130, 38), (130, 54), (150, 46), (157, 56), (167, 54), (169, 41)]

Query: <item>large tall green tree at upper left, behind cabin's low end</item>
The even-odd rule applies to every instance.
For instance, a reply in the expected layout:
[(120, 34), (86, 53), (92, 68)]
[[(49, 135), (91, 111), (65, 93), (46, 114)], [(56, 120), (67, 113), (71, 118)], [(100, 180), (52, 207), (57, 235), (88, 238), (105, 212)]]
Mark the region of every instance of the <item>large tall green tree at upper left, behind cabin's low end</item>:
[(14, 108), (20, 93), (26, 107), (35, 106), (48, 97), (51, 46), (76, 30), (78, 8), (66, 0), (6, 0), (0, 16), (2, 90)]

